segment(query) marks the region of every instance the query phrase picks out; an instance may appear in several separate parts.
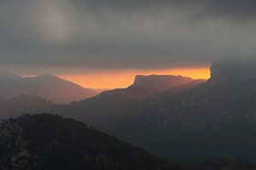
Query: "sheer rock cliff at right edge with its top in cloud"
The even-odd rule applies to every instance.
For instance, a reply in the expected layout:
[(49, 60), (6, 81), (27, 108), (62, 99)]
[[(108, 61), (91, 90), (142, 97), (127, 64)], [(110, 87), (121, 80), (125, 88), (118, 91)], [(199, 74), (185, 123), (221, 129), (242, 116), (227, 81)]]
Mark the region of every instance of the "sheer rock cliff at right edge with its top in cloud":
[(213, 84), (256, 80), (256, 60), (222, 60), (213, 63)]

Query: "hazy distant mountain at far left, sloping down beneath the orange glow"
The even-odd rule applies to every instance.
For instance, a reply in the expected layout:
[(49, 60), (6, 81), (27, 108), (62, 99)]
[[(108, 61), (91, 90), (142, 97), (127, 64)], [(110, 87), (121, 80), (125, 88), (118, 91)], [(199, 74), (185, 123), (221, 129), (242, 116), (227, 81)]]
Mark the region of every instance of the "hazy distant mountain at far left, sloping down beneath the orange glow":
[(0, 98), (12, 99), (20, 94), (38, 96), (57, 104), (68, 104), (73, 100), (87, 99), (98, 94), (95, 90), (49, 74), (38, 77), (20, 77), (0, 73)]

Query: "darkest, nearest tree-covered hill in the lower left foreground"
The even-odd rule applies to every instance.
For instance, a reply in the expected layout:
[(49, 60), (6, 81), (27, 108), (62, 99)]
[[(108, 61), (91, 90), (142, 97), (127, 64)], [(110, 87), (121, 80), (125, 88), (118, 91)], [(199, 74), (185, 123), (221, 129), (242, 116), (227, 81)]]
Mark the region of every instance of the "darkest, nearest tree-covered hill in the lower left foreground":
[(22, 115), (0, 125), (0, 168), (6, 170), (175, 170), (170, 161), (49, 114)]

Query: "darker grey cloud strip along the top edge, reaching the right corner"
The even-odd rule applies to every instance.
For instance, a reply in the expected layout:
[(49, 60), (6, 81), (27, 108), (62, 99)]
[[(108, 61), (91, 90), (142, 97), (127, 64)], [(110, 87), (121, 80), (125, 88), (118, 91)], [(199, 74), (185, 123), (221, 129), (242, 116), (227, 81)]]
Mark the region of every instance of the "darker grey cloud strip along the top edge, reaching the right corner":
[(230, 17), (234, 20), (237, 17), (237, 19), (254, 20), (256, 16), (256, 2), (253, 0), (71, 0), (71, 2), (79, 8), (114, 8), (123, 12), (124, 10), (137, 12), (148, 8), (177, 8), (199, 18)]

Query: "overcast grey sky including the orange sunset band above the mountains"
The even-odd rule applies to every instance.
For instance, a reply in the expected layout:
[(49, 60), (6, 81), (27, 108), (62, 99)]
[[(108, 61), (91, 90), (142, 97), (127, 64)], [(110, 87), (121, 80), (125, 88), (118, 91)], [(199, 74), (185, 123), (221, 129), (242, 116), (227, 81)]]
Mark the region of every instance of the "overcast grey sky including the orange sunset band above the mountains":
[(90, 88), (125, 87), (136, 74), (207, 78), (216, 59), (256, 55), (255, 8), (254, 0), (0, 0), (0, 69)]

